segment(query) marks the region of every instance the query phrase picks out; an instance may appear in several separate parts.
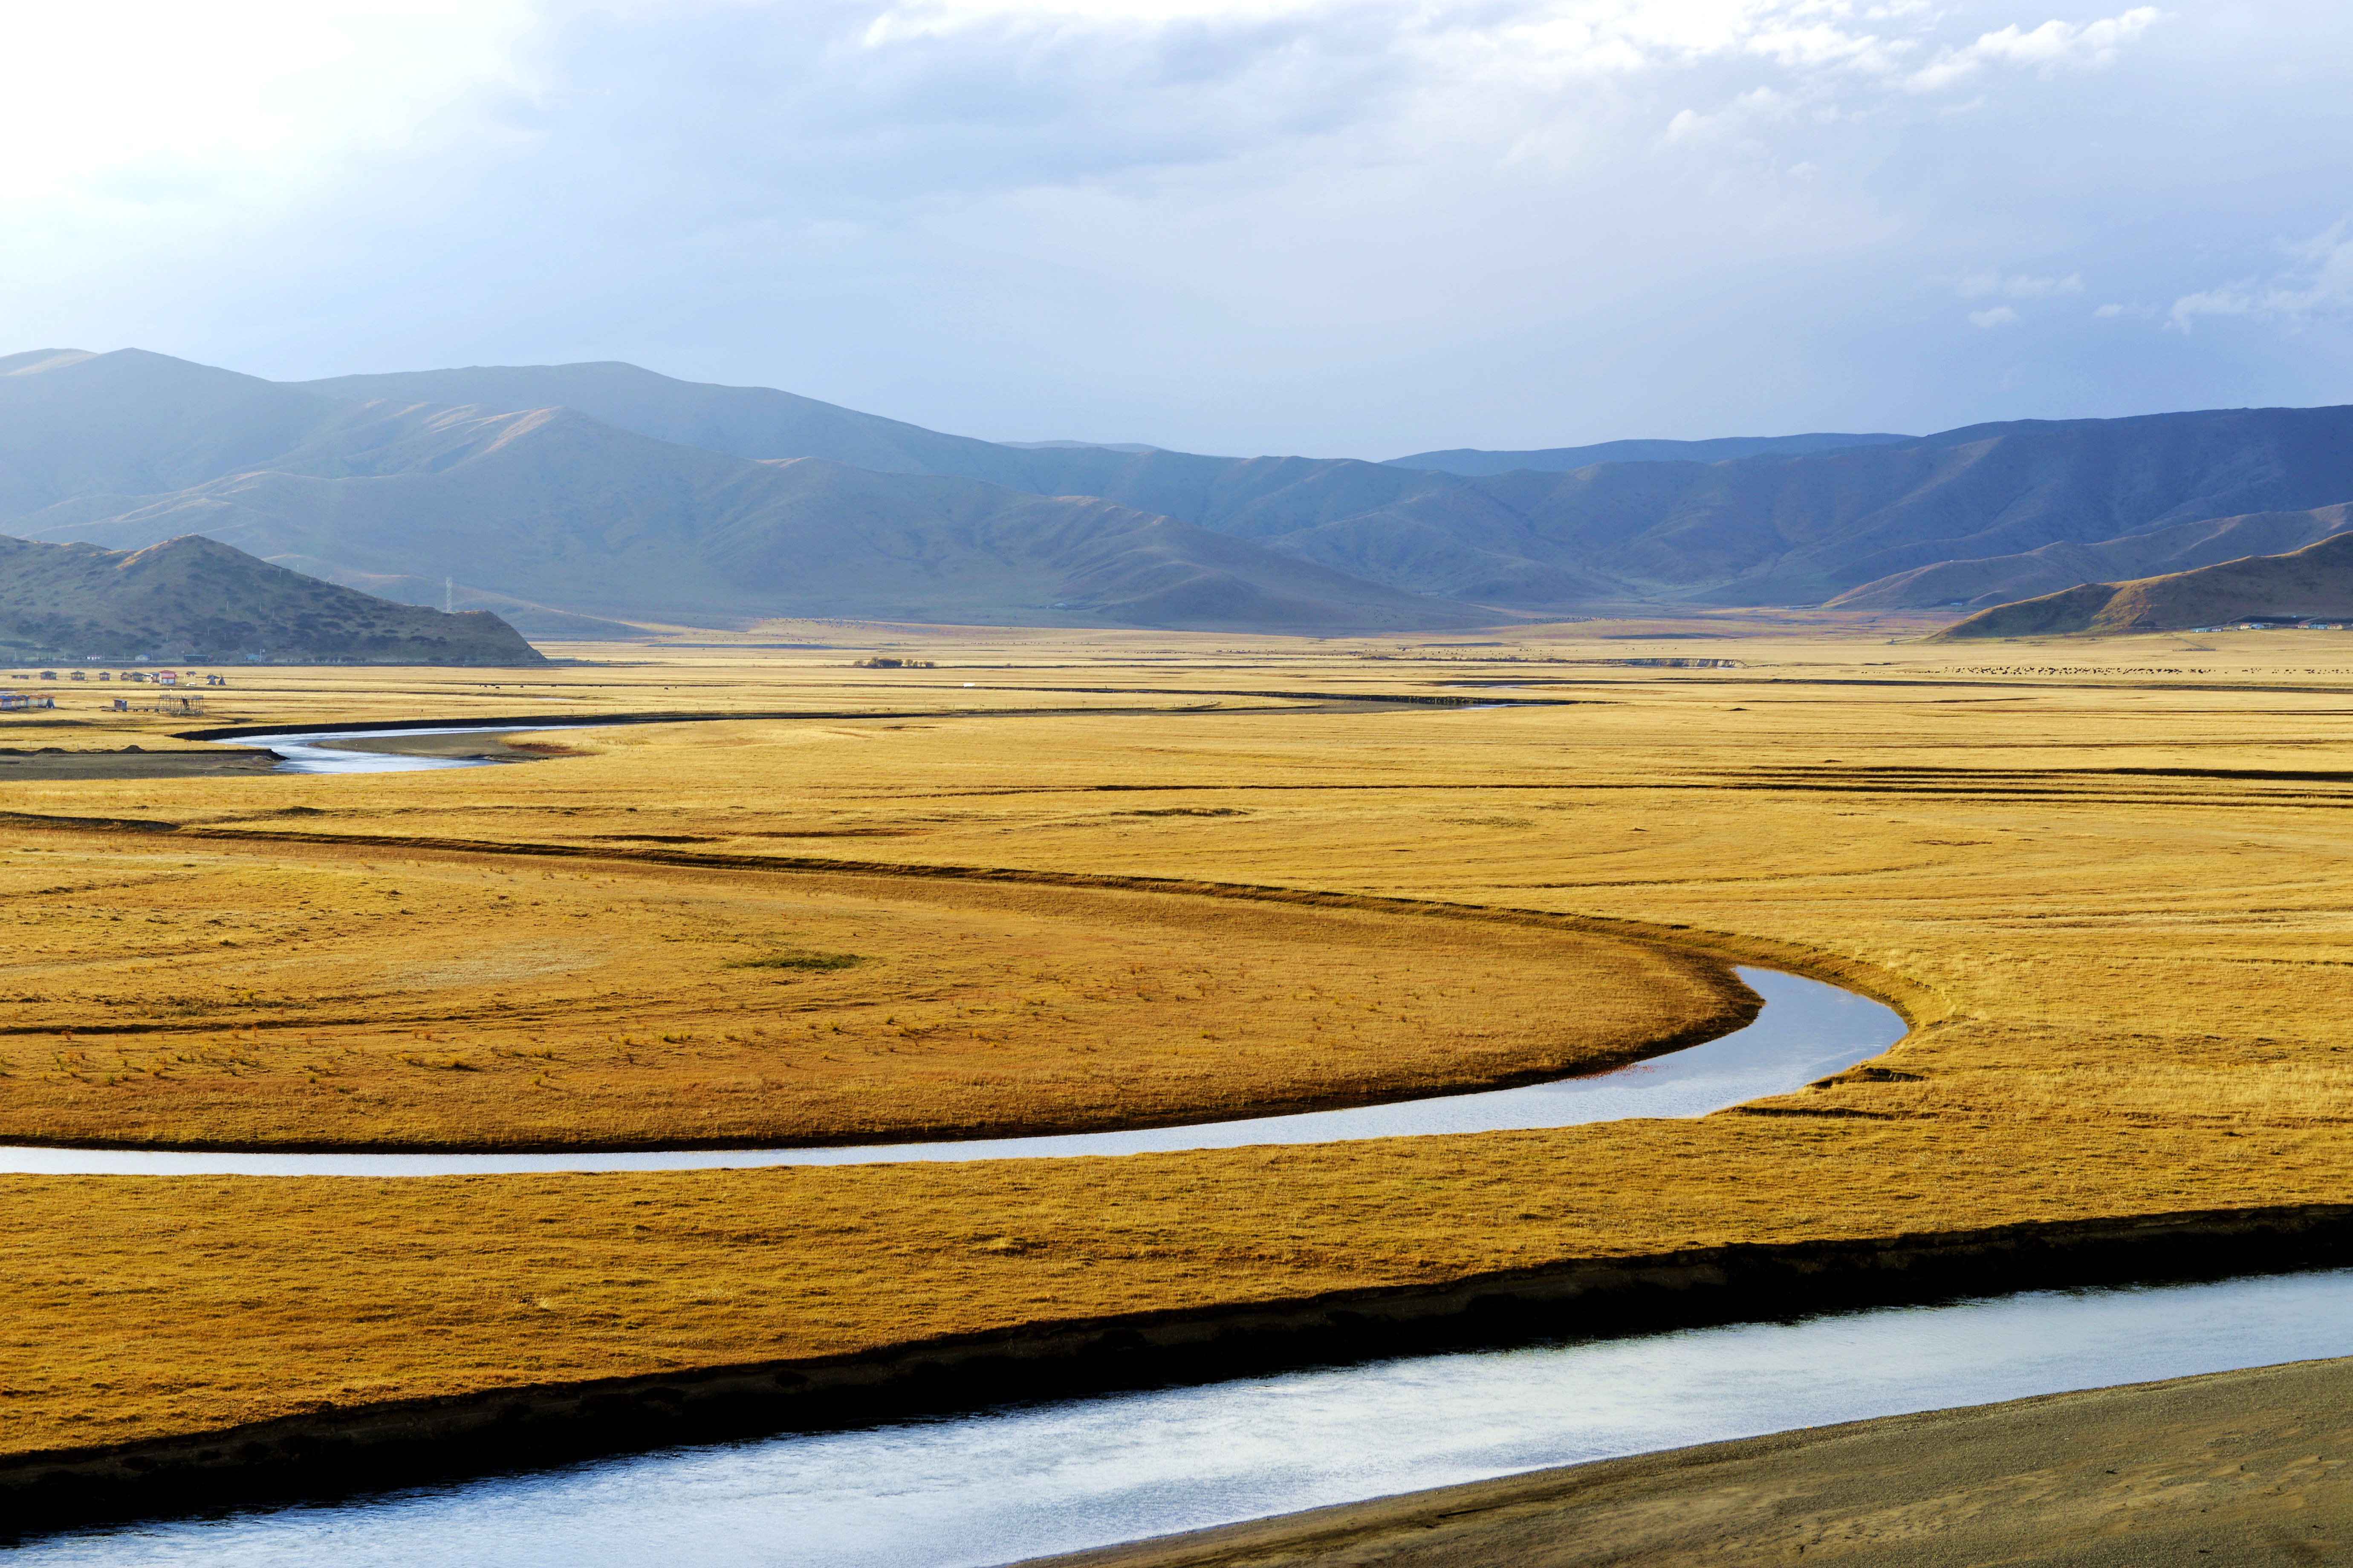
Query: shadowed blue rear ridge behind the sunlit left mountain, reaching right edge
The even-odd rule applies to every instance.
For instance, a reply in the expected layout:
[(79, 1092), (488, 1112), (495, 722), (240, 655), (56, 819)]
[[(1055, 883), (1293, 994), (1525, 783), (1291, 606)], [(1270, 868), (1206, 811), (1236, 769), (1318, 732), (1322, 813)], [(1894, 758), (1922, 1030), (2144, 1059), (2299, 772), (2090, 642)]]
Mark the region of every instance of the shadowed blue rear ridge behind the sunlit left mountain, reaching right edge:
[(1398, 590), (1527, 611), (1819, 604), (1948, 559), (2353, 498), (2344, 407), (2019, 421), (1795, 456), (1466, 477), (1353, 458), (1012, 449), (633, 367), (416, 371), (313, 388), (560, 402), (739, 456), (887, 461), (1101, 496)]

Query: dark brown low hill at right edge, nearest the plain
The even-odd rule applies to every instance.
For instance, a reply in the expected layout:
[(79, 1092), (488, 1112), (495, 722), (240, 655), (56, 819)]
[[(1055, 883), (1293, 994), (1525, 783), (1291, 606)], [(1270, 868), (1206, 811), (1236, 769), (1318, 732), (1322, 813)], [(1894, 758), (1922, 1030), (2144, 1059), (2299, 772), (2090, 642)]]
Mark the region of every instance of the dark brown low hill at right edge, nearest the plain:
[(1998, 604), (1948, 625), (1934, 642), (2174, 632), (2247, 616), (2353, 618), (2353, 534), (2337, 534), (2287, 555), (2249, 555), (2132, 583), (2082, 583), (2019, 604)]

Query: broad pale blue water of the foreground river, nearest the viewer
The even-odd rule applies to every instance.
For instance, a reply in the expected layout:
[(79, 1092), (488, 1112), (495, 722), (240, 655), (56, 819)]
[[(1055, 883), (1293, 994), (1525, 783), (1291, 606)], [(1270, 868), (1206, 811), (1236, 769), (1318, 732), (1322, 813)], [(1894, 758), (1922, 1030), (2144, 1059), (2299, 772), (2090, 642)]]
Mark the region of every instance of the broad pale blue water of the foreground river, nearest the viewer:
[(12, 1568), (984, 1568), (1904, 1410), (2353, 1354), (2353, 1269), (1169, 1387), (52, 1537)]

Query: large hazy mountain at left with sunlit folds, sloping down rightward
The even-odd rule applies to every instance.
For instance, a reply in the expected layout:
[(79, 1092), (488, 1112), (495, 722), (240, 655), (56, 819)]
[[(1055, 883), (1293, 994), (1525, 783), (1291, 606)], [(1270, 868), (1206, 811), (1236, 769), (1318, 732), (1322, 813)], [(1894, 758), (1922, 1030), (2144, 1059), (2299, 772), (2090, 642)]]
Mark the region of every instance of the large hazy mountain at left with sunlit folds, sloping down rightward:
[[(99, 381), (101, 393), (80, 381)], [(125, 409), (120, 423), (132, 428), (195, 433), (184, 442), (193, 456), (169, 477), (198, 482), (122, 494), (108, 463), (134, 482), (158, 470), (99, 437), (82, 442), (82, 458), (52, 461), (75, 449), (73, 421), (56, 409), (94, 404)], [(256, 409), (254, 423), (287, 449), (242, 465), (252, 442), (228, 440), (221, 425)], [(744, 461), (569, 407), (348, 402), (127, 353), (0, 371), (0, 461), (16, 458), (24, 428), (45, 451), (24, 454), (28, 484), (16, 503), (80, 489), (21, 515), (24, 534), (120, 548), (202, 531), (320, 576), (369, 585), (449, 576), (471, 595), (562, 616), (1205, 630), (1417, 630), (1482, 618), (1087, 496), (824, 458)], [(207, 468), (212, 477), (200, 477)], [(518, 618), (532, 623), (529, 611)]]

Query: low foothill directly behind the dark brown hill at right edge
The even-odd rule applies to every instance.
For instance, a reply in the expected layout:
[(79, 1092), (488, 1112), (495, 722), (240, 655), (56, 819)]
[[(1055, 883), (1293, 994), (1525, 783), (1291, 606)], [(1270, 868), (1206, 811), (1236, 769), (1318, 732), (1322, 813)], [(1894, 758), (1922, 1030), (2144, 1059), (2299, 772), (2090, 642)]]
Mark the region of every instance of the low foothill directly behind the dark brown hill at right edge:
[(2167, 576), (2195, 567), (2240, 559), (2242, 555), (2282, 555), (2318, 543), (2329, 534), (2353, 529), (2353, 503), (2320, 505), (2306, 512), (2249, 512), (2245, 517), (2207, 517), (2177, 522), (2169, 529), (2125, 534), (2101, 543), (2042, 545), (2024, 555), (1995, 555), (1977, 562), (1937, 562), (1915, 571), (1849, 588), (1831, 599), (1838, 609), (1939, 609), (2009, 604), (2057, 592), (2078, 583)]

